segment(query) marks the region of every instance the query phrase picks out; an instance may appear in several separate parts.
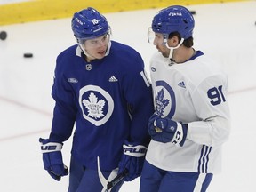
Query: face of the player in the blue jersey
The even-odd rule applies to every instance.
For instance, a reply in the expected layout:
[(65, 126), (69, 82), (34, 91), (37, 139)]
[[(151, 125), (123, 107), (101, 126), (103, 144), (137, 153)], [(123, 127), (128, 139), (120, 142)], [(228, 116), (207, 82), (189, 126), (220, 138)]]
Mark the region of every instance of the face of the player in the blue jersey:
[(82, 46), (84, 50), (88, 53), (91, 60), (102, 59), (108, 49), (109, 35), (100, 36), (93, 39), (88, 39), (84, 41)]

